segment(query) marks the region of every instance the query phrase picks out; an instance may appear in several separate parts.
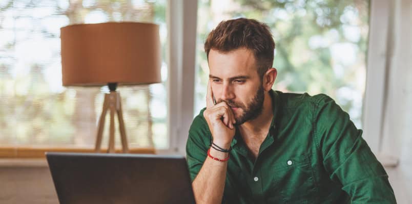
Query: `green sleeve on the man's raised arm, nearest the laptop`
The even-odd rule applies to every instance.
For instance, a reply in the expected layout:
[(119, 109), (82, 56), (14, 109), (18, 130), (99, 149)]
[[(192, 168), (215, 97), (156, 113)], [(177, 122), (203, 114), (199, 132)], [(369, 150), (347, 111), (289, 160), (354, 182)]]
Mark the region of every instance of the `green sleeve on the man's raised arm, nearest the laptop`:
[(190, 126), (189, 137), (186, 143), (186, 159), (192, 182), (199, 173), (204, 160), (206, 160), (208, 141), (211, 138), (208, 123), (202, 116), (203, 111), (200, 113), (195, 117)]

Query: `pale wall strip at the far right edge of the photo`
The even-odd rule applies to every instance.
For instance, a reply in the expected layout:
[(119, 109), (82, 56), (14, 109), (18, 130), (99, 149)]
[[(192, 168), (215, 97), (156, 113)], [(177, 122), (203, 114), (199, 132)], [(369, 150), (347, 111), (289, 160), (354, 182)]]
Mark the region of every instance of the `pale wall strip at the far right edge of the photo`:
[(387, 170), (398, 203), (412, 203), (412, 0), (391, 4), (380, 149), (398, 161)]

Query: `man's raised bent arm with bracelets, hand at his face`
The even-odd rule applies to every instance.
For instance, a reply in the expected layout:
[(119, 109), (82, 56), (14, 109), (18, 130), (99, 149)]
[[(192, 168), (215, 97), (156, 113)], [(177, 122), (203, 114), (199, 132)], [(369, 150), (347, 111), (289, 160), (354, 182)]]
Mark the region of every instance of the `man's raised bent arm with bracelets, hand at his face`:
[[(209, 127), (209, 131), (213, 137), (213, 143), (215, 143), (217, 146), (221, 148), (229, 149), (232, 139), (235, 135), (235, 127), (233, 126), (233, 124), (235, 123), (235, 118), (231, 109), (228, 107), (228, 105), (226, 105), (226, 103), (221, 102), (219, 104), (215, 104), (210, 84), (208, 84), (206, 104), (207, 109), (204, 110), (203, 117), (206, 120)], [(194, 140), (199, 140), (199, 138), (196, 137), (208, 136), (201, 135), (202, 132), (193, 129), (196, 129), (196, 125), (193, 126), (192, 124), (191, 130), (189, 131), (187, 155), (188, 163), (192, 163), (192, 161), (195, 161), (195, 165), (192, 166), (191, 164), (189, 164), (189, 168), (196, 170), (195, 166), (199, 165), (199, 162), (196, 162), (195, 157), (198, 158), (199, 156), (204, 155), (205, 149), (204, 147), (202, 148), (201, 144), (199, 143), (196, 145), (196, 142), (194, 142)], [(205, 131), (203, 131), (203, 134), (204, 132)], [(195, 135), (191, 135), (193, 133), (195, 133)], [(214, 148), (210, 148), (210, 155), (220, 160), (229, 157), (228, 152), (221, 152), (215, 150)], [(204, 160), (204, 163), (201, 166), (200, 171), (198, 172), (194, 181), (192, 182), (193, 193), (195, 195), (196, 203), (221, 203), (228, 162), (216, 161), (210, 158), (209, 156), (205, 157), (206, 159)], [(197, 159), (197, 161), (199, 161), (199, 159)]]

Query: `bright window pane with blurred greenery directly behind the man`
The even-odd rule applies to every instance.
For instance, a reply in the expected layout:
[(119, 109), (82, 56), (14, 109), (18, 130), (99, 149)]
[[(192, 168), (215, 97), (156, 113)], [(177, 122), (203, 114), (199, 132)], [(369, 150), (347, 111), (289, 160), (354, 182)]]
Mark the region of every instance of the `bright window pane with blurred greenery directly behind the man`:
[(221, 20), (247, 17), (271, 28), (278, 70), (273, 89), (326, 93), (361, 127), (369, 1), (200, 0), (198, 7), (194, 114), (205, 107), (207, 35)]

